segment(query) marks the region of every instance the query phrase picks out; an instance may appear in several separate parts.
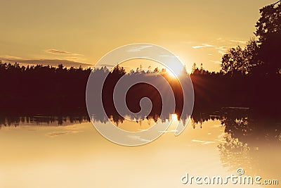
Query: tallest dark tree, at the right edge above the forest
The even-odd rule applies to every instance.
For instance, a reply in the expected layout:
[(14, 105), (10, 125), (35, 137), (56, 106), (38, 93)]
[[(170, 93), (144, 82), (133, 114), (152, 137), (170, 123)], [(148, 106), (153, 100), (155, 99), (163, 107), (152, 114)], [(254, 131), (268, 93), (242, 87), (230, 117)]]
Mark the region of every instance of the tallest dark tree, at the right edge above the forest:
[(264, 6), (260, 13), (254, 34), (259, 37), (258, 61), (261, 65), (254, 71), (260, 75), (280, 74), (281, 1)]

